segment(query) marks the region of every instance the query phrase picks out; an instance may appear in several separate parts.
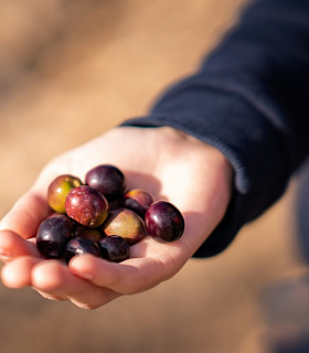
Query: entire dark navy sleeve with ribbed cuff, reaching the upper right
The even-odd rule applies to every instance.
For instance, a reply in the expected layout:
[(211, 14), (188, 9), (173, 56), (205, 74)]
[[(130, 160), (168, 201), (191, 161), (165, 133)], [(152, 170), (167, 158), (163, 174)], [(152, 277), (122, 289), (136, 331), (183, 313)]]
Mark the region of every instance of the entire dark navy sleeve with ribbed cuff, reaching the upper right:
[(147, 117), (125, 126), (170, 126), (220, 149), (235, 170), (223, 221), (196, 252), (222, 252), (283, 194), (309, 150), (309, 1), (260, 0)]

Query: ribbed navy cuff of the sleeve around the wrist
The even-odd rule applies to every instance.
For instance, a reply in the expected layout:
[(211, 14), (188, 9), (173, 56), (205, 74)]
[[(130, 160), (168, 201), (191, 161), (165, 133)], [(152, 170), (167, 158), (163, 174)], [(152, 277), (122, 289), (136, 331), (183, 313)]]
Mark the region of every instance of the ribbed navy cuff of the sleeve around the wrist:
[(195, 257), (224, 250), (241, 227), (260, 215), (286, 189), (287, 180), (281, 175), (285, 154), (276, 130), (263, 114), (233, 93), (210, 89), (205, 94), (199, 86), (183, 95), (178, 90), (177, 99), (171, 93), (148, 117), (129, 119), (121, 126), (175, 128), (217, 148), (232, 163), (233, 199)]

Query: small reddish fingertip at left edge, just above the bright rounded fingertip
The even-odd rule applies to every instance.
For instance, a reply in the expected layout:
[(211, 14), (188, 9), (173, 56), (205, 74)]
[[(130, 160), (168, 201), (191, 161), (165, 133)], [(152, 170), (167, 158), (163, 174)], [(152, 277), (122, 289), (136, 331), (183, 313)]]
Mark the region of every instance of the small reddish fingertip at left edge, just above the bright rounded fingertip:
[(0, 258), (3, 261), (24, 255), (41, 257), (34, 243), (23, 239), (11, 231), (0, 232)]

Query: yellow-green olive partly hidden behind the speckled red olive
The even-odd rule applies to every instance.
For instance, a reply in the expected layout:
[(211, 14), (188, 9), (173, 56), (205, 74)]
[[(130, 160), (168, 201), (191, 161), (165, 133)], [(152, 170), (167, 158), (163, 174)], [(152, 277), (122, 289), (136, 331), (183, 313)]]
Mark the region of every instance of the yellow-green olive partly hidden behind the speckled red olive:
[(47, 190), (47, 203), (55, 211), (65, 213), (65, 199), (73, 188), (81, 186), (82, 181), (70, 174), (58, 175)]

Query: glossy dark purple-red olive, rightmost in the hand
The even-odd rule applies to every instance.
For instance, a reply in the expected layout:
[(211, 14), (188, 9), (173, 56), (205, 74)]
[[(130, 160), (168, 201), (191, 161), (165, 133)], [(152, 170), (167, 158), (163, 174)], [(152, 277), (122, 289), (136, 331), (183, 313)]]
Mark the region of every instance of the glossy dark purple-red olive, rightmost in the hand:
[(174, 242), (184, 231), (184, 220), (180, 211), (169, 202), (157, 201), (145, 215), (147, 233), (159, 242)]

